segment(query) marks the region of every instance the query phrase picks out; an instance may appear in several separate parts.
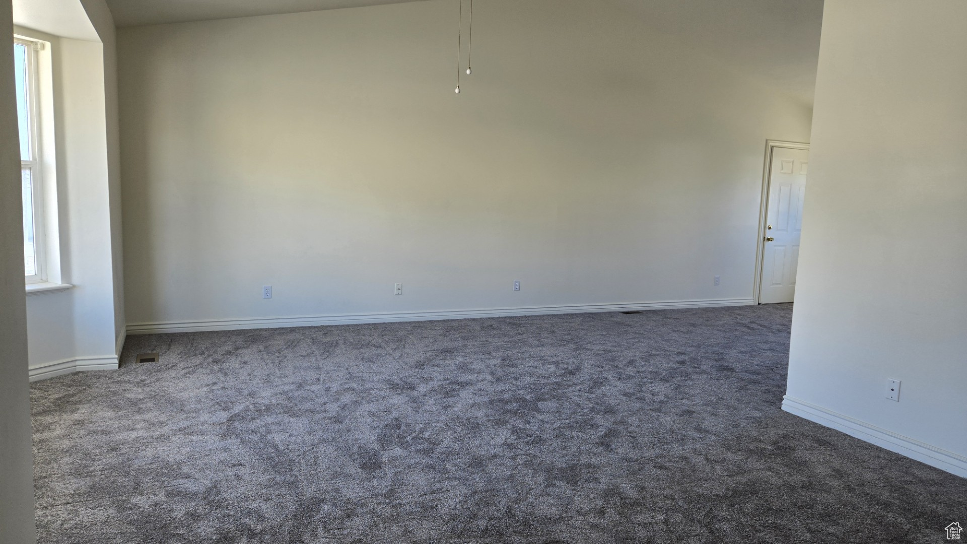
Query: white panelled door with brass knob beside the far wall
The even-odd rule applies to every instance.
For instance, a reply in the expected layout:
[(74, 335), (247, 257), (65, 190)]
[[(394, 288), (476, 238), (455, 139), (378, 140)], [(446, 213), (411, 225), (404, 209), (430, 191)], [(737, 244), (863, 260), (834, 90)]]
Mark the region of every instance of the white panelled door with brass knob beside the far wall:
[(803, 198), (809, 152), (773, 148), (769, 169), (769, 203), (766, 211), (759, 303), (792, 302), (796, 293), (799, 239), (803, 231)]

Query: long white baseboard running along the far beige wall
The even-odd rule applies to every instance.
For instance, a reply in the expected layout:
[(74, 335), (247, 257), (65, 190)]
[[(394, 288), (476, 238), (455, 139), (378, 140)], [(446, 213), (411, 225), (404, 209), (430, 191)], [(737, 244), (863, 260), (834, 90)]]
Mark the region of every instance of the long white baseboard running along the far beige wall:
[(625, 302), (616, 304), (573, 304), (564, 306), (531, 306), (522, 308), (492, 308), (484, 310), (442, 310), (432, 312), (400, 312), (390, 314), (347, 314), (329, 316), (247, 317), (238, 319), (199, 319), (192, 321), (162, 321), (130, 323), (128, 334), (166, 332), (200, 332), (235, 329), (277, 327), (310, 327), (318, 325), (346, 325), (352, 323), (389, 323), (396, 321), (425, 321), (435, 319), (466, 319), (473, 317), (542, 316), (549, 314), (585, 314), (592, 312), (630, 312), (669, 308), (713, 308), (720, 306), (749, 306), (750, 298), (715, 298), (708, 300), (680, 300), (668, 302)]

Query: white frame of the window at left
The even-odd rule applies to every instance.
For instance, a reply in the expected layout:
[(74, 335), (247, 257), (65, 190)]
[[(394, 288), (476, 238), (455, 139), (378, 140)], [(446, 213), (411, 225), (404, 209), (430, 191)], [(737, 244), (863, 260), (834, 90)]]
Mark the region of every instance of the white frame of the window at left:
[(40, 116), (40, 79), (37, 70), (37, 52), (43, 48), (41, 42), (14, 38), (14, 43), (27, 47), (26, 80), (27, 122), (29, 129), (30, 160), (21, 159), (21, 169), (30, 170), (30, 187), (33, 191), (31, 204), (34, 212), (34, 272), (24, 276), (27, 284), (41, 284), (47, 281), (46, 236), (44, 235), (44, 160), (41, 156), (41, 116)]

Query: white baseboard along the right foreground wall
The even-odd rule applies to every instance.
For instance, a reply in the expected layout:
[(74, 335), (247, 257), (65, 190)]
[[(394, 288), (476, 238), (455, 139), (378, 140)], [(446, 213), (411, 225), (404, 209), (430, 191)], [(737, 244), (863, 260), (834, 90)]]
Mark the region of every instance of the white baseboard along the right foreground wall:
[(782, 397), (782, 409), (809, 421), (835, 429), (847, 435), (876, 444), (894, 453), (916, 459), (930, 467), (947, 470), (967, 478), (967, 457), (940, 449), (913, 438), (897, 435), (848, 415), (806, 403), (788, 395)]

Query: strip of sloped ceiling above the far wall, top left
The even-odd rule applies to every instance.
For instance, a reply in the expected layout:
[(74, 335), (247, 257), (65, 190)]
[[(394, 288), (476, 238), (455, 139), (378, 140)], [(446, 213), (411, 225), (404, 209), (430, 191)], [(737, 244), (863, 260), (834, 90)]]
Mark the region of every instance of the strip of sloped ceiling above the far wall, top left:
[[(34, 0), (20, 0), (30, 1)], [(117, 26), (295, 14), (417, 0), (106, 0)]]

